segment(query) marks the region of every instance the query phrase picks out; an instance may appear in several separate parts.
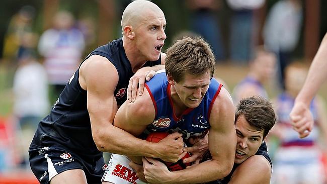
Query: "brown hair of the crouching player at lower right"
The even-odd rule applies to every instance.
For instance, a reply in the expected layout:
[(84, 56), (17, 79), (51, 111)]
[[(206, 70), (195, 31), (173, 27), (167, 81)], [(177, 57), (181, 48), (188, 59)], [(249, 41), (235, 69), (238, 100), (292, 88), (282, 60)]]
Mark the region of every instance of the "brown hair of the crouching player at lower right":
[(243, 115), (258, 131), (264, 130), (263, 138), (267, 136), (276, 122), (272, 103), (259, 96), (242, 99), (236, 107), (235, 123), (240, 115)]

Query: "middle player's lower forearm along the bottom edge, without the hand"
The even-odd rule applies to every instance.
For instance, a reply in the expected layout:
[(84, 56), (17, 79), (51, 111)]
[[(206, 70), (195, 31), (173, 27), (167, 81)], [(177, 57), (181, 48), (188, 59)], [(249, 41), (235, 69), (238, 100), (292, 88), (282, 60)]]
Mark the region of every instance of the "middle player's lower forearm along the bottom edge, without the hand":
[(232, 165), (209, 160), (184, 170), (171, 172), (167, 183), (202, 183), (221, 179), (229, 174)]

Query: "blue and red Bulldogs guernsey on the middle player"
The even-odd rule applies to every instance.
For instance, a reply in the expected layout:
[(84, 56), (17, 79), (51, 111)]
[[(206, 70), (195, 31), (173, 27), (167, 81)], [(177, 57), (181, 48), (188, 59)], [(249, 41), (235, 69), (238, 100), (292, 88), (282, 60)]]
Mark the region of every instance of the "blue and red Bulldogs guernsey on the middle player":
[[(171, 85), (165, 72), (156, 74), (145, 84), (155, 109), (155, 119), (148, 125), (145, 134), (149, 132), (180, 132), (185, 139), (200, 137), (210, 128), (210, 112), (212, 105), (219, 95), (222, 85), (214, 78), (211, 79), (209, 88), (200, 105), (194, 109), (187, 109), (181, 117), (173, 111), (171, 98)], [(142, 135), (143, 137), (144, 135)]]

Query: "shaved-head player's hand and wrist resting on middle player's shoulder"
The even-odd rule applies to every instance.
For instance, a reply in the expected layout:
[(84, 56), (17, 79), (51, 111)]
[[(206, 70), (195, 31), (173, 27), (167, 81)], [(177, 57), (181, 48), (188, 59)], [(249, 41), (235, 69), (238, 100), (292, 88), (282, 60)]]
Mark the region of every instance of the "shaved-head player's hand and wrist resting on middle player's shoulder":
[[(160, 69), (165, 69), (165, 59), (166, 54), (161, 52), (161, 65), (159, 64), (151, 67), (140, 68), (130, 78), (127, 87), (127, 100), (130, 103), (135, 101), (137, 94), (138, 96), (141, 96), (143, 94), (145, 80), (149, 81), (155, 75), (156, 71)], [(139, 91), (137, 91), (137, 87)]]

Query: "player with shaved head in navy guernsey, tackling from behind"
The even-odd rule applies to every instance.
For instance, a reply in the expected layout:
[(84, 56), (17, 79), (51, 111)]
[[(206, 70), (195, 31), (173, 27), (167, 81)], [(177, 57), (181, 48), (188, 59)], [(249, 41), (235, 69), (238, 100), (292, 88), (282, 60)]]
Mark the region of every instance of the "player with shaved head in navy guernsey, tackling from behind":
[(159, 7), (135, 1), (123, 13), (123, 37), (81, 62), (30, 145), (31, 168), (41, 183), (101, 183), (106, 168), (102, 152), (170, 162), (183, 156), (180, 133), (150, 143), (113, 126), (120, 105), (126, 99), (134, 102), (138, 86), (142, 95), (145, 79), (164, 68), (165, 28)]

